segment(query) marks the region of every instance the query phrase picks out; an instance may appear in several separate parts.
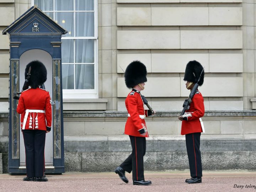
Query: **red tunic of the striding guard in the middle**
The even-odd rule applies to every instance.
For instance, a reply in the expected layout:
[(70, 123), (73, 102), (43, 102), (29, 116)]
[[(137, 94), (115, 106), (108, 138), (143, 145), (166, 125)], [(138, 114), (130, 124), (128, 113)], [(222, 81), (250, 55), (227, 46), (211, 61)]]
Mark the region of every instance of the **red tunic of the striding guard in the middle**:
[(146, 127), (145, 118), (140, 118), (139, 115), (148, 117), (148, 110), (144, 109), (144, 103), (140, 96), (140, 92), (133, 89), (126, 97), (126, 108), (130, 117), (127, 118), (124, 134), (132, 135), (135, 137), (149, 137), (148, 132), (146, 135), (140, 135), (139, 130)]

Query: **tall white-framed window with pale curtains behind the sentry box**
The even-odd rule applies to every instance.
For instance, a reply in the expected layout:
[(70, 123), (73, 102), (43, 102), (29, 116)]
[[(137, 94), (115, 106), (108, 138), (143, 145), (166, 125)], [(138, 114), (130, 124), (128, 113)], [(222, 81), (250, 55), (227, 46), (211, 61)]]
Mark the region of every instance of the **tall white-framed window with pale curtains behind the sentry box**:
[(32, 0), (68, 31), (62, 37), (63, 98), (97, 98), (97, 0)]

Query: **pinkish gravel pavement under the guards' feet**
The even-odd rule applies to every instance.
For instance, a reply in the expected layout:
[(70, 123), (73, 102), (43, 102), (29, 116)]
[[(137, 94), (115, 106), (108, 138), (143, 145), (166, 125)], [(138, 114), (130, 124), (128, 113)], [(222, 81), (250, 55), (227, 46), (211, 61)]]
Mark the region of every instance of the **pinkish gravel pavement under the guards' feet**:
[(89, 192), (169, 192), (169, 191), (255, 191), (256, 172), (214, 171), (203, 172), (203, 182), (187, 184), (189, 172), (145, 172), (150, 186), (132, 185), (132, 174), (127, 174), (129, 183), (122, 182), (115, 173), (64, 173), (47, 175), (48, 182), (25, 182), (24, 176), (0, 175), (0, 191), (89, 191)]

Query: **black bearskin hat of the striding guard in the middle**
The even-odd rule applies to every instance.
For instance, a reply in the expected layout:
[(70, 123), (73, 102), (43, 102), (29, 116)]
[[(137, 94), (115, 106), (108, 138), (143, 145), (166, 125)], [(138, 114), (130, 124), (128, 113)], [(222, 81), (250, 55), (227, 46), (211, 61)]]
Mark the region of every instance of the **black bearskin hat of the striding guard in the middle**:
[(133, 61), (127, 66), (124, 73), (126, 86), (128, 88), (133, 88), (141, 82), (146, 82), (146, 74), (146, 66), (140, 61)]

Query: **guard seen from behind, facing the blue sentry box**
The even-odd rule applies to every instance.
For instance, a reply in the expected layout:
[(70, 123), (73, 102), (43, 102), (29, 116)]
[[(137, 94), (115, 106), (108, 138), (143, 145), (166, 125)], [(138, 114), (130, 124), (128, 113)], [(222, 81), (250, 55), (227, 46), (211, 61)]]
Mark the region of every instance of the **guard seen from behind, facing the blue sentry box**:
[(43, 177), (44, 146), (52, 126), (52, 107), (49, 92), (39, 88), (47, 79), (44, 64), (37, 60), (27, 64), (25, 79), (17, 106), (26, 153), (27, 176), (23, 181), (48, 181)]

